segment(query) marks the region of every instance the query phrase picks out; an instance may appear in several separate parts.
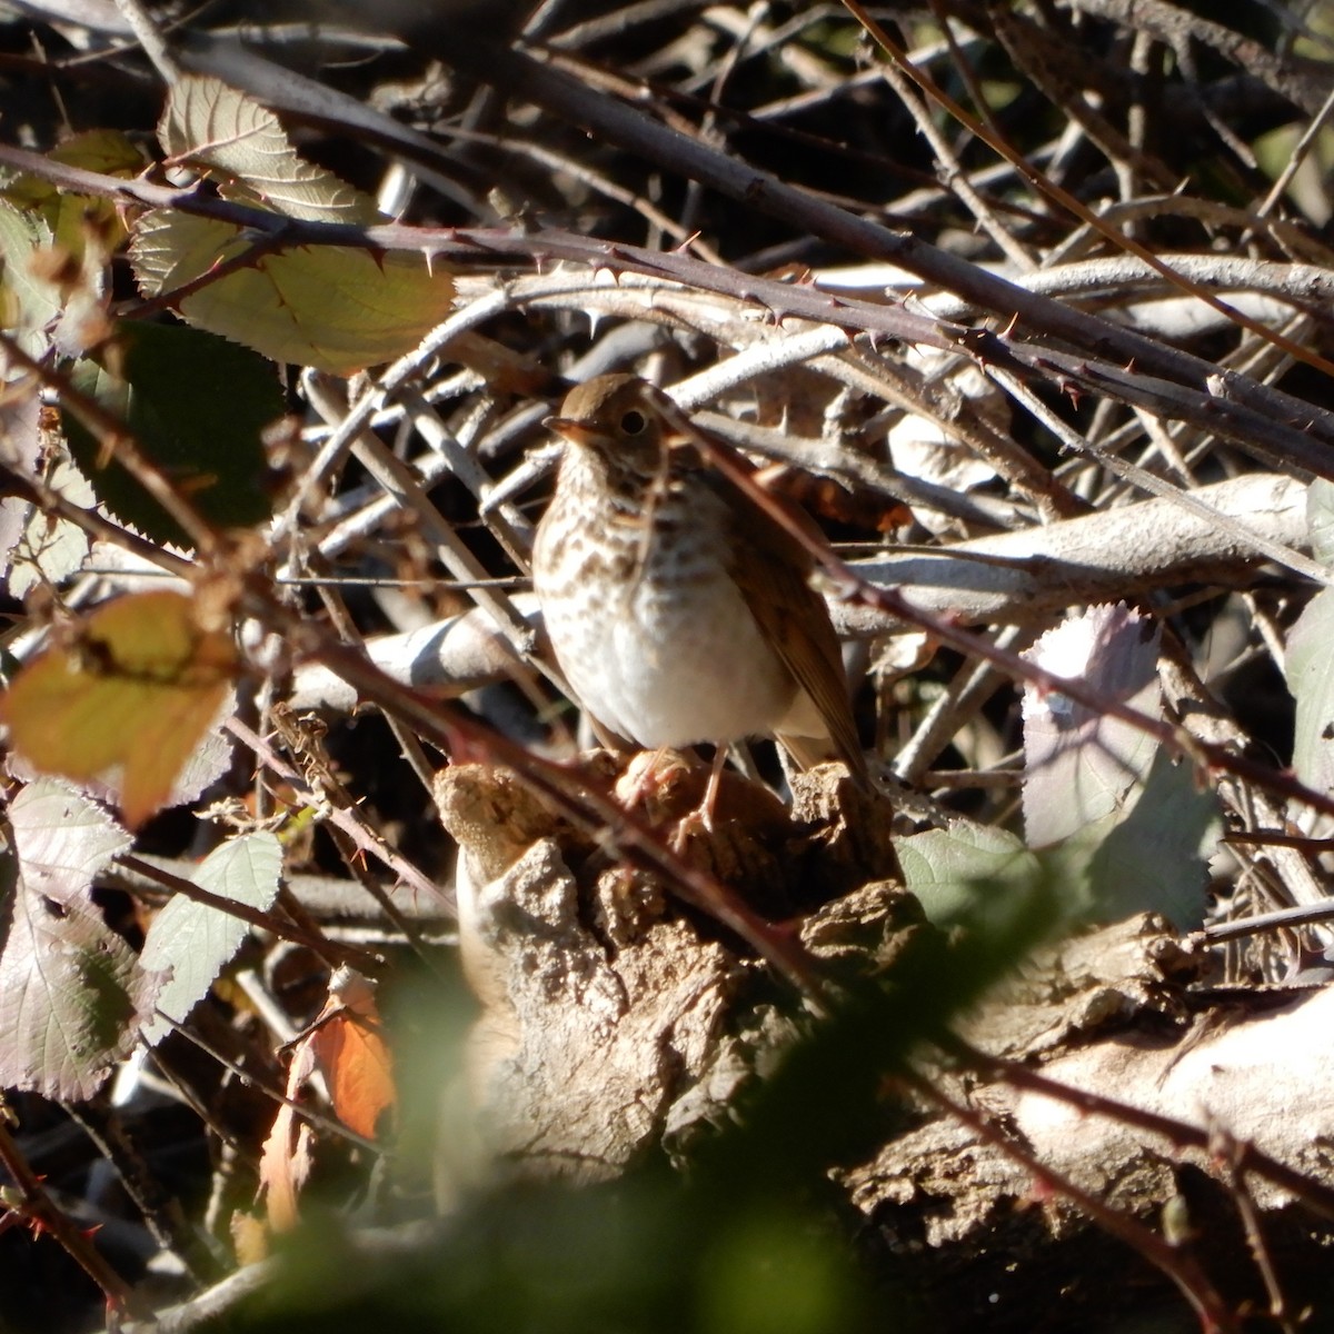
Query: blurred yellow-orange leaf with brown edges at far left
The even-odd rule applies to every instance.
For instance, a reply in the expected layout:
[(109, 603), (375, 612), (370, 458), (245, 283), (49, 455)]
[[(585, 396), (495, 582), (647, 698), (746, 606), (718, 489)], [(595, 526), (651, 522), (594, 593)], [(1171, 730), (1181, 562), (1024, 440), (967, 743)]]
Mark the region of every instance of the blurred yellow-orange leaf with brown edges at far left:
[(15, 750), (76, 782), (120, 766), (125, 823), (171, 795), (236, 675), (236, 651), (192, 600), (148, 592), (99, 607), (69, 644), (28, 663), (0, 696)]

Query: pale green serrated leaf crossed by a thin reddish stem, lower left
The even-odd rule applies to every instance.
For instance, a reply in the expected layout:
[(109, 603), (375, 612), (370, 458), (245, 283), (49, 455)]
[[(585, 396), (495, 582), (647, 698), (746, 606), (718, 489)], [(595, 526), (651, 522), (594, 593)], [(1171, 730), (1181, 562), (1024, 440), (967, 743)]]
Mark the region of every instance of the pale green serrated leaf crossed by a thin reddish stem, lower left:
[[(203, 890), (267, 911), (277, 898), (283, 848), (272, 834), (245, 834), (215, 848), (191, 879)], [(144, 940), (140, 963), (151, 971), (171, 970), (157, 996), (161, 1014), (183, 1023), (207, 995), (217, 974), (241, 947), (249, 924), (220, 908), (177, 894), (157, 914)], [(157, 1043), (171, 1025), (155, 1015), (143, 1035)]]

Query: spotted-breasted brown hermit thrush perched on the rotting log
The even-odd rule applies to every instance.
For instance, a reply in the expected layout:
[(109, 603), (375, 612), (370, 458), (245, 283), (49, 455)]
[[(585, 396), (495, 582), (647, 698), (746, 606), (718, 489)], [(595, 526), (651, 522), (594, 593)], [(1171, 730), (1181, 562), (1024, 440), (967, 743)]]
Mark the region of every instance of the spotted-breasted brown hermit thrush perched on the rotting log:
[(866, 783), (812, 560), (752, 498), (670, 443), (652, 390), (602, 375), (548, 422), (566, 438), (532, 576), (560, 670), (644, 748), (772, 735)]

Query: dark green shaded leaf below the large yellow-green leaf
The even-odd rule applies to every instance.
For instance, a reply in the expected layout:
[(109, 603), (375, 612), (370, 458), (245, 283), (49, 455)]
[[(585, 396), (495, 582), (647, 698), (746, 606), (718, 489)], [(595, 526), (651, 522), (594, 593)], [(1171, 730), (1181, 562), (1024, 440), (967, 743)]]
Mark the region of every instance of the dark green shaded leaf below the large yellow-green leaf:
[[(125, 321), (103, 359), (85, 362), (75, 384), (125, 422), (139, 450), (191, 504), (221, 528), (263, 523), (272, 512), (261, 434), (283, 415), (273, 367), (211, 334), (180, 324)], [(185, 546), (161, 506), (73, 414), (65, 414), (69, 451), (99, 500), (157, 542)]]

